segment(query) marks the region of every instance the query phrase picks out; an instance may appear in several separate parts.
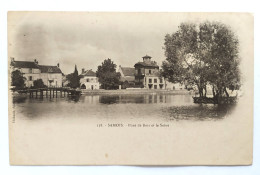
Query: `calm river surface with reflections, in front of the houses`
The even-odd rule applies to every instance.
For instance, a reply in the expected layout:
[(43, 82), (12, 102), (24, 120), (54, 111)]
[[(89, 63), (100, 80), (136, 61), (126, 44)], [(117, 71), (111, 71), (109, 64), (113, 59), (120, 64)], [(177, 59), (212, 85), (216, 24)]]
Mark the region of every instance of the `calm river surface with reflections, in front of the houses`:
[[(13, 97), (13, 123), (19, 120), (89, 118), (115, 120), (145, 119), (159, 121), (219, 120), (232, 106), (194, 104), (191, 95), (135, 94), (82, 95), (36, 99), (27, 95)], [(82, 120), (79, 120), (82, 121)]]

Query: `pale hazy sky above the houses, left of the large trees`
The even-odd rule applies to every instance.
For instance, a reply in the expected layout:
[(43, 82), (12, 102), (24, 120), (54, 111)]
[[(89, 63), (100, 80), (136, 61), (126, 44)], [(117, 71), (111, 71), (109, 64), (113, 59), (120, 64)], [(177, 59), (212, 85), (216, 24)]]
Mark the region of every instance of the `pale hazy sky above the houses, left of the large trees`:
[(79, 72), (96, 71), (106, 58), (117, 67), (133, 67), (146, 54), (161, 65), (165, 35), (190, 18), (178, 13), (13, 12), (8, 14), (9, 57), (60, 63), (65, 74), (75, 64)]

